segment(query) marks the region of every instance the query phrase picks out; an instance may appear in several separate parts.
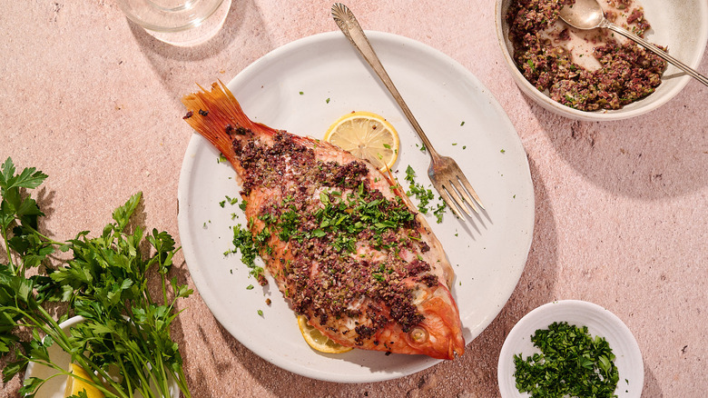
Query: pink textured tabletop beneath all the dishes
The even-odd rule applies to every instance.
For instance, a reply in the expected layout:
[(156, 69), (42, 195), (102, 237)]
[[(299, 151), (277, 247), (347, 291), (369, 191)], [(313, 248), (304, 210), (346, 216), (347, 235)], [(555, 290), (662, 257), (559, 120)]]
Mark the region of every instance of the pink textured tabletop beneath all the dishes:
[[(225, 332), (199, 294), (175, 337), (194, 397), (494, 397), (497, 359), (536, 306), (605, 306), (644, 355), (645, 397), (703, 396), (708, 385), (708, 88), (690, 82), (659, 110), (575, 122), (522, 95), (503, 65), (494, 2), (348, 3), (367, 29), (416, 39), (466, 66), (497, 97), (526, 147), (536, 228), (526, 270), (464, 356), (383, 383), (336, 384), (283, 371)], [(68, 239), (100, 230), (144, 194), (146, 224), (177, 232), (177, 181), (192, 131), (182, 95), (228, 81), (292, 40), (336, 29), (331, 2), (234, 0), (220, 34), (192, 48), (156, 41), (112, 1), (5, 2), (0, 15), (0, 159), (49, 174), (44, 227)], [(463, 12), (464, 11), (464, 12)], [(468, 12), (467, 12), (468, 11)], [(699, 70), (708, 73), (708, 53)], [(182, 257), (182, 277), (192, 284)], [(4, 366), (5, 363), (0, 363)], [(20, 379), (0, 384), (12, 397)]]

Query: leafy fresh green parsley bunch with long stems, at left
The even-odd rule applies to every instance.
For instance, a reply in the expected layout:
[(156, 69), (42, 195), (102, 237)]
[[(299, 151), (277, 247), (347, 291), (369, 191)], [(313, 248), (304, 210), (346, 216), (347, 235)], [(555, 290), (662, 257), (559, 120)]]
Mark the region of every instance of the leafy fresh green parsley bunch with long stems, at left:
[[(172, 236), (156, 229), (144, 234), (130, 224), (138, 193), (115, 209), (99, 236), (83, 231), (54, 241), (39, 231), (44, 214), (27, 194), (46, 178), (34, 167), (17, 174), (11, 158), (0, 170), (0, 256), (6, 261), (0, 260), (0, 356), (11, 361), (5, 383), (29, 362), (70, 374), (49, 358), (47, 348), (57, 344), (107, 397), (168, 397), (172, 380), (191, 397), (170, 336), (176, 301), (192, 294), (176, 278), (167, 280), (179, 250)], [(153, 278), (160, 287), (149, 284)], [(62, 314), (55, 320), (54, 312)], [(73, 315), (84, 322), (67, 336), (59, 323)], [(117, 381), (109, 367), (117, 368)], [(29, 378), (19, 393), (34, 396), (44, 382)]]

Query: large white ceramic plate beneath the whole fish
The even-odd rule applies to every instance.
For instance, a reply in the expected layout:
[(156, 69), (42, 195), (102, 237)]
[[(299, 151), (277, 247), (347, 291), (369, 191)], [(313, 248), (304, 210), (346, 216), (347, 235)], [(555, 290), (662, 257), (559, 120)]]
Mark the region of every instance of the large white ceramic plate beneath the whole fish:
[[(486, 213), (468, 222), (451, 214), (442, 224), (428, 218), (457, 273), (453, 294), (469, 343), (497, 316), (526, 264), (534, 227), (526, 153), (497, 101), (464, 67), (397, 35), (369, 32), (369, 39), (438, 152), (457, 159), (487, 206)], [(342, 114), (381, 114), (400, 135), (394, 170), (399, 170), (401, 184), (408, 186), (403, 177), (411, 165), (417, 182), (430, 186), (428, 154), (420, 151), (418, 137), (339, 32), (284, 45), (244, 69), (229, 87), (251, 119), (315, 138)], [(424, 356), (312, 351), (276, 284), (270, 281), (261, 288), (240, 256), (223, 255), (232, 247), (231, 226), (246, 220), (238, 206), (220, 205), (226, 195), (238, 196), (241, 187), (231, 166), (219, 164), (218, 156), (201, 136), (192, 136), (179, 184), (179, 229), (194, 284), (234, 337), (270, 363), (331, 382), (393, 379), (438, 363)], [(256, 287), (247, 290), (250, 284)]]

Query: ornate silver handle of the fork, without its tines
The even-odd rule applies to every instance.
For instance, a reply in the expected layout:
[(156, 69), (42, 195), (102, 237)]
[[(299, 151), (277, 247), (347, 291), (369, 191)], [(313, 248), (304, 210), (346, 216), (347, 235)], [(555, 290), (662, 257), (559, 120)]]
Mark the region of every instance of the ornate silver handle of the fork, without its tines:
[(377, 56), (376, 52), (374, 52), (374, 48), (371, 47), (367, 35), (364, 34), (357, 18), (354, 17), (354, 14), (351, 10), (349, 10), (349, 7), (341, 3), (335, 3), (332, 5), (332, 18), (334, 19), (334, 22), (337, 23), (342, 33), (347, 36), (349, 42), (354, 45), (354, 48), (359, 51), (359, 54), (371, 66), (376, 75), (379, 76), (381, 82), (386, 86), (386, 88), (388, 88), (388, 92), (393, 95), (393, 99), (396, 100), (396, 103), (400, 106), (403, 114), (405, 114), (408, 118), (408, 122), (413, 125), (413, 129), (416, 133), (418, 133), (420, 140), (423, 141), (424, 145), (426, 145), (428, 153), (433, 157), (433, 159), (436, 159), (438, 157), (438, 152), (436, 152), (433, 148), (433, 144), (430, 144), (428, 136), (423, 133), (423, 129), (420, 128), (420, 124), (418, 124), (418, 121), (413, 116), (413, 113), (410, 112), (408, 104), (403, 101), (403, 97), (400, 93), (398, 93), (396, 86), (393, 85), (393, 81), (391, 81), (386, 69), (384, 69), (383, 65), (381, 65), (381, 61), (379, 61), (379, 56)]

